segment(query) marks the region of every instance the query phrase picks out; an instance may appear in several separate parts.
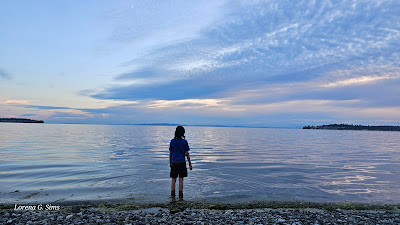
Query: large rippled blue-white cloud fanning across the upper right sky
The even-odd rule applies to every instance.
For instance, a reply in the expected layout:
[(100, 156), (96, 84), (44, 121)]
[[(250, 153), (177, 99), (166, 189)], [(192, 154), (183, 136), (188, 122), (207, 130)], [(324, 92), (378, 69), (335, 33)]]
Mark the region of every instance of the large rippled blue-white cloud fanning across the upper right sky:
[(230, 2), (224, 5), (229, 12), (225, 17), (210, 20), (190, 38), (165, 42), (123, 63), (134, 69), (117, 75), (117, 84), (90, 96), (209, 99), (268, 85), (281, 89), (282, 83), (317, 82), (303, 88), (315, 90), (392, 80), (400, 71), (396, 4)]

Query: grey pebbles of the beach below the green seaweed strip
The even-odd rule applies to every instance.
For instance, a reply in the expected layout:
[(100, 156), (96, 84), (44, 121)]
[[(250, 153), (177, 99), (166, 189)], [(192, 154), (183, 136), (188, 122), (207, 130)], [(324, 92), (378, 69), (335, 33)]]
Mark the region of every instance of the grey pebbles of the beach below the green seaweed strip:
[[(79, 211), (79, 212), (78, 212)], [(326, 209), (0, 211), (0, 224), (400, 224), (400, 212)]]

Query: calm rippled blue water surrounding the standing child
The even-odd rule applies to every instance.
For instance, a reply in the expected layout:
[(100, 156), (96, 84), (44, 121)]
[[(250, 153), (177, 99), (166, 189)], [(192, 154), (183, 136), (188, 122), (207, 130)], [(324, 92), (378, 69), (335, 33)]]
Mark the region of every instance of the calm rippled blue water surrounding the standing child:
[[(0, 203), (168, 201), (174, 130), (1, 123)], [(187, 200), (400, 203), (400, 132), (186, 127), (186, 138)]]

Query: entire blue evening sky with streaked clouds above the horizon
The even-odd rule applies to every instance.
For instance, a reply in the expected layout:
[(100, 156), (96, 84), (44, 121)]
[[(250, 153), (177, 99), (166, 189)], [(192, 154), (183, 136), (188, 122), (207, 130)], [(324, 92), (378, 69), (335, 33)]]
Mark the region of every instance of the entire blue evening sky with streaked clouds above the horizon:
[(400, 125), (397, 0), (2, 0), (0, 117)]

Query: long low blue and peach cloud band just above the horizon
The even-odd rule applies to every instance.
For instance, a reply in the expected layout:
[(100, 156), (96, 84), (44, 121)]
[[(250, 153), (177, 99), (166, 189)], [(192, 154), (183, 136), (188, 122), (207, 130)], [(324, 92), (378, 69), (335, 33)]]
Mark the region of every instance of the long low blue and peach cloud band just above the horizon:
[[(24, 107), (19, 104), (19, 108)], [(33, 107), (28, 105), (27, 110)], [(184, 123), (247, 126), (301, 126), (316, 121), (369, 124), (400, 119), (400, 106), (373, 106), (362, 99), (297, 99), (272, 102), (224, 99), (147, 100), (103, 108), (41, 107), (35, 116), (57, 123)], [(30, 114), (30, 113), (27, 113)], [(47, 116), (46, 116), (47, 115)], [(364, 123), (365, 124), (365, 123)]]

